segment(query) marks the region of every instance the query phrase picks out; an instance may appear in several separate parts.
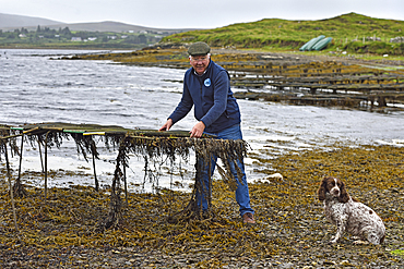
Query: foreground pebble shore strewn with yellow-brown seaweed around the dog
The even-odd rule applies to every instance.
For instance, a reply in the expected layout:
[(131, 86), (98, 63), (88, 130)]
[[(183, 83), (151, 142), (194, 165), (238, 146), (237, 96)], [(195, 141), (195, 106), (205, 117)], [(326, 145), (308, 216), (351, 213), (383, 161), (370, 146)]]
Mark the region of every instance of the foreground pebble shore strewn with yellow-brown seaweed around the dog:
[[(241, 223), (233, 192), (216, 179), (210, 218), (168, 223), (190, 194), (130, 193), (123, 224), (104, 231), (98, 228), (110, 189), (51, 188), (44, 199), (43, 189), (27, 185), (27, 195), (15, 200), (15, 230), (1, 167), (0, 262), (3, 268), (403, 268), (403, 160), (402, 148), (390, 146), (261, 159), (262, 170), (273, 168), (283, 179), (250, 184), (256, 225)], [(317, 198), (324, 175), (343, 179), (352, 196), (379, 213), (384, 244), (354, 245), (348, 234), (328, 244), (335, 227)]]

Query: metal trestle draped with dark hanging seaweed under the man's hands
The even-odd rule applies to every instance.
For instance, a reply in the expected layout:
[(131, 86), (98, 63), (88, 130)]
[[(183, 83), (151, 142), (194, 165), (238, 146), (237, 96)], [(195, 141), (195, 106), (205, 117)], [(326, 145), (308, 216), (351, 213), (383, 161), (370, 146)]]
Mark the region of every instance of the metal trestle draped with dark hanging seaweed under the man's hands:
[[(88, 155), (93, 157), (93, 163), (98, 158), (97, 146), (94, 140), (94, 136), (99, 136), (104, 139), (106, 146), (118, 147), (118, 155), (116, 158), (116, 169), (111, 181), (111, 193), (109, 201), (109, 212), (105, 219), (98, 222), (97, 229), (119, 229), (123, 223), (122, 208), (123, 203), (121, 199), (122, 185), (124, 186), (124, 195), (128, 200), (127, 183), (126, 183), (126, 169), (129, 168), (129, 155), (133, 154), (144, 159), (144, 181), (148, 180), (154, 184), (158, 185), (159, 173), (155, 173), (154, 170), (161, 171), (161, 167), (167, 162), (170, 169), (174, 169), (176, 159), (183, 159), (186, 162), (189, 161), (191, 151), (195, 152), (195, 184), (189, 204), (171, 216), (168, 216), (167, 221), (180, 222), (187, 221), (194, 218), (202, 218), (202, 211), (197, 207), (195, 193), (204, 193), (212, 206), (211, 193), (206, 192), (206, 187), (201, 184), (200, 171), (204, 169), (203, 163), (211, 163), (210, 160), (213, 156), (222, 158), (224, 168), (218, 168), (221, 175), (224, 181), (229, 185), (231, 189), (236, 188), (236, 180), (230, 172), (230, 163), (241, 161), (247, 156), (248, 144), (245, 140), (226, 140), (216, 139), (212, 136), (204, 135), (202, 138), (190, 138), (189, 133), (186, 131), (174, 131), (174, 132), (157, 132), (152, 130), (127, 130), (119, 126), (102, 126), (95, 124), (71, 124), (71, 123), (37, 123), (28, 124), (16, 127), (21, 132), (20, 134), (11, 135), (12, 127), (1, 129), (2, 137), (1, 142), (4, 145), (2, 154), (7, 152), (5, 145), (9, 144), (13, 150), (21, 155), (23, 149), (24, 137), (34, 145), (38, 143), (45, 148), (45, 161), (44, 161), (44, 180), (45, 180), (45, 198), (47, 198), (47, 149), (52, 147), (60, 148), (63, 139), (72, 138), (75, 142), (76, 150), (79, 155), (88, 161)], [(20, 148), (16, 145), (16, 137), (21, 136)], [(21, 149), (21, 151), (20, 151)], [(41, 158), (40, 152), (40, 158)], [(17, 197), (24, 197), (26, 191), (22, 187), (21, 178), (21, 159), (19, 178), (15, 180), (13, 192)], [(152, 169), (153, 167), (154, 169)], [(238, 176), (242, 178), (240, 169), (236, 169)], [(210, 169), (209, 169), (210, 171)], [(8, 173), (10, 169), (8, 168)], [(98, 192), (98, 181), (95, 173), (95, 189)], [(212, 185), (211, 174), (210, 185)], [(10, 188), (11, 189), (11, 188)], [(210, 212), (207, 212), (210, 215)], [(206, 216), (204, 216), (206, 217)]]

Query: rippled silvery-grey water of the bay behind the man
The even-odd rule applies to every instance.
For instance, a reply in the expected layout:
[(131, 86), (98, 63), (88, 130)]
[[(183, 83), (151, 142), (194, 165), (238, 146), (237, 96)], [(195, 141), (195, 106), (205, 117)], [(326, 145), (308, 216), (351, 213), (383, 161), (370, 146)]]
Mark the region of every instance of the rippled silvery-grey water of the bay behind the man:
[[(70, 122), (157, 130), (165, 122), (181, 97), (182, 85), (173, 81), (181, 81), (185, 70), (129, 66), (109, 61), (50, 60), (86, 52), (99, 51), (0, 50), (0, 123)], [(380, 114), (248, 100), (239, 100), (239, 105), (250, 152), (264, 158), (334, 143), (404, 146), (402, 112)], [(191, 112), (175, 129), (190, 130), (194, 123)], [(99, 147), (103, 149), (103, 143)], [(116, 154), (104, 149), (97, 162), (97, 174), (105, 184), (111, 180)], [(142, 183), (142, 159), (134, 157), (131, 161), (128, 174), (131, 187), (150, 189), (151, 185)], [(264, 176), (254, 170), (252, 161), (246, 160), (250, 181)], [(16, 168), (15, 158), (13, 163)], [(63, 143), (60, 150), (50, 151), (48, 167), (86, 174), (68, 181), (66, 176), (56, 176), (51, 185), (93, 182), (91, 163), (75, 154), (71, 142)], [(23, 170), (40, 171), (35, 148), (26, 146)], [(159, 172), (161, 186), (176, 181), (165, 176), (165, 172)], [(32, 181), (41, 184), (40, 180)]]

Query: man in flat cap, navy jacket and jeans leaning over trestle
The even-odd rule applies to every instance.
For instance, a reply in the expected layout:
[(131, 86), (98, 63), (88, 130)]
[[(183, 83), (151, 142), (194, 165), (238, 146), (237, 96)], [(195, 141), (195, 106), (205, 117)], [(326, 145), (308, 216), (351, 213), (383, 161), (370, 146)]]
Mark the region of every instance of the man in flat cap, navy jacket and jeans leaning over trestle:
[[(194, 117), (198, 123), (190, 131), (191, 137), (201, 137), (203, 133), (215, 135), (218, 139), (242, 139), (240, 129), (240, 110), (230, 89), (230, 78), (225, 69), (211, 60), (211, 48), (205, 42), (194, 42), (188, 49), (192, 68), (187, 70), (183, 78), (181, 101), (168, 117), (167, 122), (159, 131), (168, 131), (181, 120), (194, 106)], [(212, 159), (213, 174), (217, 157)], [(243, 223), (256, 223), (253, 210), (250, 207), (250, 195), (246, 179), (245, 166), (238, 162), (242, 171), (241, 183), (237, 176), (234, 163), (230, 163), (231, 173), (237, 181), (236, 200), (240, 207)], [(209, 166), (204, 164), (202, 182), (209, 188)], [(206, 188), (205, 188), (206, 189)], [(211, 193), (211, 189), (207, 189)], [(197, 189), (197, 203), (207, 210), (207, 200), (204, 194)]]

